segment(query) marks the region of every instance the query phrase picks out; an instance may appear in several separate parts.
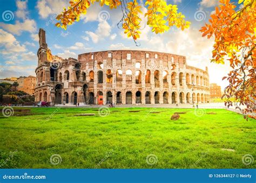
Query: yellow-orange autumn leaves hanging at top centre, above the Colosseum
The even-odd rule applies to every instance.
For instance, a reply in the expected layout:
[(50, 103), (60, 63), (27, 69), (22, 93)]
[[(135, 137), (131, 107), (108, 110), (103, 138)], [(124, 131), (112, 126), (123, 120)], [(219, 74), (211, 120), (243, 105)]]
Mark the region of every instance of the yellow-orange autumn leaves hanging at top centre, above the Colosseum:
[[(73, 24), (75, 21), (79, 21), (79, 17), (82, 14), (86, 14), (87, 9), (91, 4), (99, 2), (100, 6), (106, 5), (110, 9), (117, 8), (122, 5), (123, 18), (122, 28), (127, 37), (132, 37), (137, 40), (140, 37), (142, 19), (142, 6), (139, 5), (137, 0), (124, 1), (119, 0), (72, 0), (68, 9), (64, 8), (63, 12), (56, 17), (59, 22), (55, 24), (57, 27), (61, 27), (66, 30), (68, 25)], [(163, 33), (168, 31), (171, 26), (176, 26), (181, 30), (184, 30), (190, 26), (190, 22), (185, 21), (185, 16), (178, 12), (177, 5), (167, 4), (164, 0), (147, 0), (145, 2), (147, 12), (144, 17), (147, 17), (147, 25), (152, 27), (152, 32)]]

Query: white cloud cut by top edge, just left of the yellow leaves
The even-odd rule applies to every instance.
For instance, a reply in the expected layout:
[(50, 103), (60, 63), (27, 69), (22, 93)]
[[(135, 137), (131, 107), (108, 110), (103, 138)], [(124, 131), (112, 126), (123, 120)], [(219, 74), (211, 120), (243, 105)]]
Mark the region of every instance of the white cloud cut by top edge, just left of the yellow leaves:
[(47, 18), (50, 15), (58, 15), (63, 11), (63, 7), (68, 7), (69, 1), (63, 0), (39, 0), (36, 8), (41, 18)]

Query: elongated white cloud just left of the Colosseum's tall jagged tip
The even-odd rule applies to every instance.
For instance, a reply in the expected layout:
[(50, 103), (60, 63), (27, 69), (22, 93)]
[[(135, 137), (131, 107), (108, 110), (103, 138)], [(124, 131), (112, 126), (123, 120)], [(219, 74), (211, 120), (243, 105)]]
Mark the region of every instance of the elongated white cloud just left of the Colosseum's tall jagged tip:
[(33, 33), (36, 31), (36, 22), (35, 20), (25, 19), (24, 22), (19, 22), (18, 20), (15, 22), (15, 24), (5, 24), (0, 23), (0, 27), (3, 27), (6, 31), (21, 35), (23, 31), (28, 31), (30, 33)]

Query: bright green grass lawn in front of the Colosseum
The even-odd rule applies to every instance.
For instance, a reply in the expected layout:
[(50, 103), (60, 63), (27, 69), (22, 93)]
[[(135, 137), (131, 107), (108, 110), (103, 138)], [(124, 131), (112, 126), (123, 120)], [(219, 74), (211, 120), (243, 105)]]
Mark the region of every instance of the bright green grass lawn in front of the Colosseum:
[[(224, 109), (196, 116), (194, 109), (111, 108), (106, 117), (96, 108), (28, 109), (24, 116), (0, 114), (1, 168), (256, 167), (242, 163), (245, 154), (256, 159), (255, 120)], [(181, 111), (186, 114), (170, 119)], [(96, 116), (75, 116), (84, 113)], [(50, 163), (53, 154), (61, 163)], [(157, 163), (147, 163), (149, 154)]]

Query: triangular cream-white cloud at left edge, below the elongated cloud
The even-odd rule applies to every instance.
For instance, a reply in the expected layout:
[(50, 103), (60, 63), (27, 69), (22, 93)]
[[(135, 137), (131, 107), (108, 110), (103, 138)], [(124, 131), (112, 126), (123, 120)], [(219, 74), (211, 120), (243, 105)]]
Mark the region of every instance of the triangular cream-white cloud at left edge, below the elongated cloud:
[(24, 52), (26, 51), (25, 45), (20, 45), (19, 41), (16, 40), (14, 35), (8, 33), (2, 29), (0, 29), (0, 53), (2, 54), (10, 54), (14, 52)]

